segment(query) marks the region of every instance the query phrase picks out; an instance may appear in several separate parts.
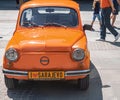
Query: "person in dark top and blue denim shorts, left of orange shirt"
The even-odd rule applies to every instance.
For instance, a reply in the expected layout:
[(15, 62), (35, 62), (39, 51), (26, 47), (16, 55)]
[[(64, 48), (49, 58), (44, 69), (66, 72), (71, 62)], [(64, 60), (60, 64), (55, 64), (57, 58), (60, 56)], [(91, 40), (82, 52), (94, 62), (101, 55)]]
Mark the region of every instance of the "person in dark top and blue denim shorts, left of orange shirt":
[(92, 9), (94, 11), (93, 11), (93, 19), (92, 19), (92, 22), (91, 22), (91, 30), (94, 30), (93, 29), (93, 24), (95, 22), (96, 17), (99, 20), (99, 24), (100, 24), (100, 27), (101, 27), (100, 0), (94, 0), (93, 1), (93, 8)]

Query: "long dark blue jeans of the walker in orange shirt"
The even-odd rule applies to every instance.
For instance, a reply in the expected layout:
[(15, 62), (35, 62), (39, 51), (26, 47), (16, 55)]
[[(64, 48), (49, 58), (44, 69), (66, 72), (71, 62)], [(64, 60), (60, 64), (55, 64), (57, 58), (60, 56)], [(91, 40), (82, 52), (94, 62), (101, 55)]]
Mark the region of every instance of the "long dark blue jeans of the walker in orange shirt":
[(100, 38), (105, 39), (106, 37), (106, 28), (114, 35), (117, 36), (118, 32), (112, 27), (110, 23), (110, 14), (112, 12), (111, 7), (103, 8), (101, 10), (101, 32), (100, 32)]

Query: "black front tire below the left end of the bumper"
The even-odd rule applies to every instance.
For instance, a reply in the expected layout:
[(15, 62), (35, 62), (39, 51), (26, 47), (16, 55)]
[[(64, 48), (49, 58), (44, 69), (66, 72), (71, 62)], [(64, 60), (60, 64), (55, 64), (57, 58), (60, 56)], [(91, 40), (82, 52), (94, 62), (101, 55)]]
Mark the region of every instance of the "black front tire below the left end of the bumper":
[(15, 89), (18, 86), (18, 80), (4, 76), (5, 85), (8, 89)]

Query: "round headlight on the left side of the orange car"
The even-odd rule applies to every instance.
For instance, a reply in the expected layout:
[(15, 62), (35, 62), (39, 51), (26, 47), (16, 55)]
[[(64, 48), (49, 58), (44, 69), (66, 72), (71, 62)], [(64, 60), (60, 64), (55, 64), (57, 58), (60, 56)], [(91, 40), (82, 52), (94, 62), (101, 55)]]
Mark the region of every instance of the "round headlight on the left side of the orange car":
[(5, 52), (5, 57), (10, 61), (16, 61), (18, 59), (18, 53), (14, 48), (10, 48)]

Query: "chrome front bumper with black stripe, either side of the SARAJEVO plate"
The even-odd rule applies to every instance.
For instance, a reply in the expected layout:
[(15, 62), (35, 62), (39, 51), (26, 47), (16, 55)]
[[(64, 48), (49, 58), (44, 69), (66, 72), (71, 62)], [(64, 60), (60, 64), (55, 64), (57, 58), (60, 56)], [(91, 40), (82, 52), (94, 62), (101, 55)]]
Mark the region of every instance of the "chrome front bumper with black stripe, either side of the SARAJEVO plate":
[[(16, 71), (16, 70), (3, 69), (3, 73), (5, 75), (12, 75), (12, 76), (28, 76), (28, 71)], [(90, 69), (77, 70), (77, 71), (65, 71), (65, 76), (80, 76), (80, 75), (88, 75), (89, 73), (90, 73)]]

